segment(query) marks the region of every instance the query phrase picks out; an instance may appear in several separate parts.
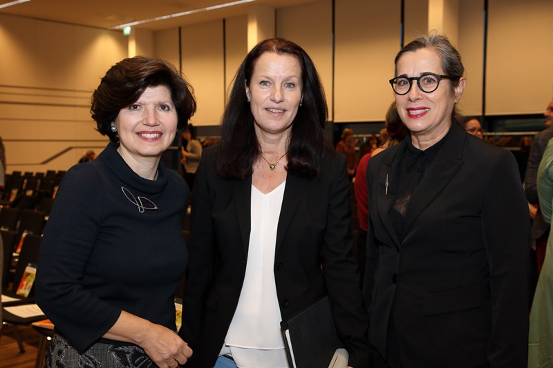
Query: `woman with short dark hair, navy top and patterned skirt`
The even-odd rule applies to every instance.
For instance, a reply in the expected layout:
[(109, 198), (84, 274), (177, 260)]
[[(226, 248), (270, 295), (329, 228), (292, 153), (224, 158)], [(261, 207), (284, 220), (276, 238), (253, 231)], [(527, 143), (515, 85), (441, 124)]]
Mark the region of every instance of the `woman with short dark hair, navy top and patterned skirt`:
[(167, 368), (191, 356), (174, 304), (189, 191), (160, 157), (195, 111), (191, 87), (158, 59), (124, 59), (94, 91), (111, 142), (64, 176), (39, 254), (37, 304), (57, 331), (46, 367)]

